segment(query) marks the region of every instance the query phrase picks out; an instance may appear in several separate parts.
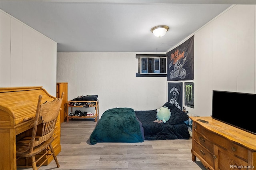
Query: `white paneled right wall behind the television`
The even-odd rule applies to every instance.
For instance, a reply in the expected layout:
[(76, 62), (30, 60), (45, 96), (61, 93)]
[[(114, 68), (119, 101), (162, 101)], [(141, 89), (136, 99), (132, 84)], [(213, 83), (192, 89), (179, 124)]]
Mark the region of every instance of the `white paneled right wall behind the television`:
[(212, 114), (212, 90), (256, 93), (255, 5), (232, 6), (194, 35), (194, 109), (186, 107), (192, 115)]

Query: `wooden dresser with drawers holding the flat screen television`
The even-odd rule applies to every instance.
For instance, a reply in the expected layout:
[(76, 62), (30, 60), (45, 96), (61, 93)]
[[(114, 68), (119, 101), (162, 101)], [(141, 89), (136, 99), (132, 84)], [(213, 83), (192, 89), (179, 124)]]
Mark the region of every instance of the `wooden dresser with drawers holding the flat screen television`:
[(255, 170), (256, 135), (212, 117), (192, 119), (192, 161), (196, 157), (208, 170)]

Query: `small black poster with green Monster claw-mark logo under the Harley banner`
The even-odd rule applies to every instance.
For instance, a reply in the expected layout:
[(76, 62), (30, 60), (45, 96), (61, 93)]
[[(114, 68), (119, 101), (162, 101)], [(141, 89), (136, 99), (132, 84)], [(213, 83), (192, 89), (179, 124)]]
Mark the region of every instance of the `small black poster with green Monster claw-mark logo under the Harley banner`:
[(194, 82), (185, 82), (184, 85), (185, 106), (194, 108)]

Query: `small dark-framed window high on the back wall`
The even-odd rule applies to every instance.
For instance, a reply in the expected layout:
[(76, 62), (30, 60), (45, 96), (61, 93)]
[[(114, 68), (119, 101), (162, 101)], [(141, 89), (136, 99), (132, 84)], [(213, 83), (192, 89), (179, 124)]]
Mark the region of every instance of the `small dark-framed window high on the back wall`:
[(165, 54), (136, 54), (138, 73), (136, 77), (166, 77)]

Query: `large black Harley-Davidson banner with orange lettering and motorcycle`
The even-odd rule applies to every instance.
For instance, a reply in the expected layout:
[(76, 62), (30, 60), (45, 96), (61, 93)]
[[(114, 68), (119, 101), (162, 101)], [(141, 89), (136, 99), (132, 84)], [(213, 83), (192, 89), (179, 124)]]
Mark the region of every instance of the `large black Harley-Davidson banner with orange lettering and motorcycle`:
[(194, 80), (194, 36), (167, 53), (167, 81)]

